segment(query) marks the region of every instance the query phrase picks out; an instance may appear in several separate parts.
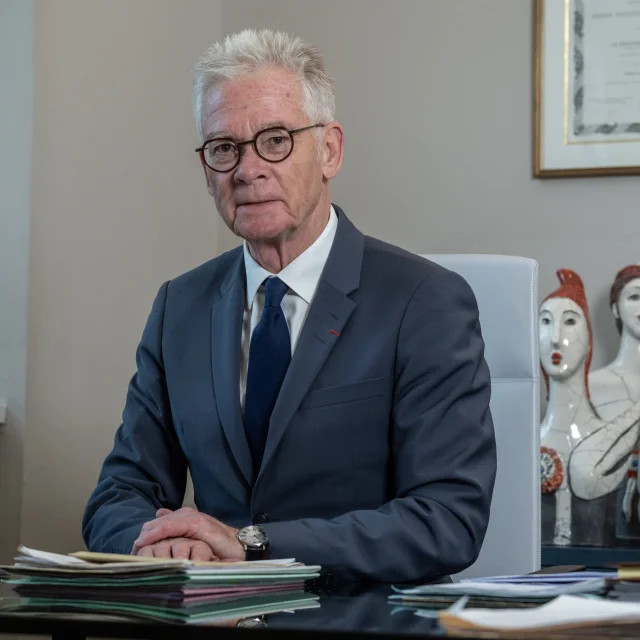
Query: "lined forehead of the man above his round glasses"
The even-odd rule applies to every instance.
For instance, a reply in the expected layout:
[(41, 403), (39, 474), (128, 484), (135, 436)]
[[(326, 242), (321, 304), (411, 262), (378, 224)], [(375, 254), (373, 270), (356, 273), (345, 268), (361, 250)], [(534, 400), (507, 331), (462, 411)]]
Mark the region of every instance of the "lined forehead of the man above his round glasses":
[(300, 83), (293, 73), (282, 69), (226, 80), (207, 92), (202, 107), (205, 137), (217, 133), (245, 136), (274, 123), (305, 124)]

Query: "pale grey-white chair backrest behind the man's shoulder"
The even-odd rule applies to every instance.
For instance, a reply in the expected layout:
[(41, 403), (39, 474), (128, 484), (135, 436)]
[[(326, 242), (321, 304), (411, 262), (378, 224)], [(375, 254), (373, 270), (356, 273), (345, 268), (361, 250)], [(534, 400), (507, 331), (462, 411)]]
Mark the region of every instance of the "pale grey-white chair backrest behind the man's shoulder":
[(498, 473), (478, 560), (455, 578), (540, 568), (538, 264), (494, 255), (425, 255), (459, 273), (478, 301), (491, 371)]

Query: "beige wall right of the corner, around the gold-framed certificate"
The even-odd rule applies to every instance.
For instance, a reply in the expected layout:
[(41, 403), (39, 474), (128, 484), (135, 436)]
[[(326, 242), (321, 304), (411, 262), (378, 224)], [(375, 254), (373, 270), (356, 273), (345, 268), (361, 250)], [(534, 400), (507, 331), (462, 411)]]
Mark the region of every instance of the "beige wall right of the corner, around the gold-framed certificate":
[(573, 268), (594, 366), (615, 354), (607, 289), (640, 262), (640, 178), (531, 177), (532, 1), (230, 0), (222, 22), (325, 53), (346, 132), (334, 200), (364, 232), (421, 253), (535, 258), (541, 293)]

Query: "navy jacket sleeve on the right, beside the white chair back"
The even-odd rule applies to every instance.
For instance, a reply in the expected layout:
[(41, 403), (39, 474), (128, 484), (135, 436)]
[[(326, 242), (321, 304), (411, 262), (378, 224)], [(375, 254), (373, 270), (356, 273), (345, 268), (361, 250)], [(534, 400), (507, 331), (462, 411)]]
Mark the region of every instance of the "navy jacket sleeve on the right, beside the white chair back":
[(459, 275), (439, 271), (414, 292), (398, 335), (396, 497), (332, 520), (267, 523), (273, 557), (379, 582), (428, 581), (471, 565), (496, 473), (490, 393), (473, 292)]

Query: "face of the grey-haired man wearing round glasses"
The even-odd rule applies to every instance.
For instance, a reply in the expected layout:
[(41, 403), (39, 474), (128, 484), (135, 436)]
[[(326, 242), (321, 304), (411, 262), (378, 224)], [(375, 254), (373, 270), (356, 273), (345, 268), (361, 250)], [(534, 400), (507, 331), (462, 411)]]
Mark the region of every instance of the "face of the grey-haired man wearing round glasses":
[[(242, 76), (212, 89), (202, 109), (204, 140), (250, 140), (262, 129), (288, 130), (316, 124), (302, 106), (295, 76), (279, 69)], [(262, 159), (253, 145), (240, 148), (240, 162), (227, 173), (205, 165), (207, 187), (227, 226), (249, 241), (286, 238), (305, 225), (322, 196), (324, 172), (314, 129), (294, 134), (291, 155)]]

